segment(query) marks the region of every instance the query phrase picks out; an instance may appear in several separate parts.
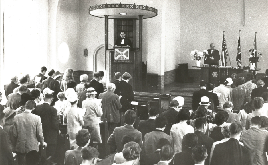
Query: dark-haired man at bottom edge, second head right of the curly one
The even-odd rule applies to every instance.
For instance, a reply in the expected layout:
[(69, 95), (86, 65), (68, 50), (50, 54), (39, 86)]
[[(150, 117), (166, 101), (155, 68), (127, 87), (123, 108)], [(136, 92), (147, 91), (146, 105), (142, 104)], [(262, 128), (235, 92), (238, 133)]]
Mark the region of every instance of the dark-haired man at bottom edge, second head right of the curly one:
[(160, 150), (160, 161), (157, 165), (168, 165), (174, 157), (174, 148), (171, 145), (164, 145)]

